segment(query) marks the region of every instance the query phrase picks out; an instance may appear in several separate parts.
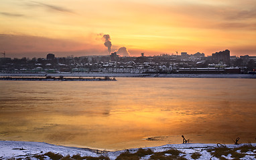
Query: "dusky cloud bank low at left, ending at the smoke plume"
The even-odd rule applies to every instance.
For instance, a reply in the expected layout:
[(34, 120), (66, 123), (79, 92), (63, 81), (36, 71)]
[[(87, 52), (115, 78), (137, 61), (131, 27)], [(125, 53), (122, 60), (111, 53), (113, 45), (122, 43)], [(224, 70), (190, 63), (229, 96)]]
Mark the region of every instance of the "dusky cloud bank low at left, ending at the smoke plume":
[(5, 50), (6, 57), (18, 58), (45, 57), (47, 53), (56, 53), (56, 57), (106, 55), (102, 45), (29, 35), (0, 34), (0, 48)]

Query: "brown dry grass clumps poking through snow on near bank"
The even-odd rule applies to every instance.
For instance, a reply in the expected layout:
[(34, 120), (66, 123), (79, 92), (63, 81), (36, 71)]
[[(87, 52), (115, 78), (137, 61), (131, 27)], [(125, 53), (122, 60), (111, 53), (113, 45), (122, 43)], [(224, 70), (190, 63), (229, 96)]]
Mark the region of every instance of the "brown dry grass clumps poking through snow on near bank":
[[(207, 150), (212, 157), (216, 157), (220, 160), (226, 160), (225, 156), (230, 156), (233, 160), (235, 159), (241, 159), (245, 157), (245, 155), (251, 155), (254, 156), (253, 158), (256, 159), (256, 156), (253, 155), (256, 153), (256, 147), (253, 147), (252, 145), (242, 145), (237, 148), (228, 148), (225, 145), (221, 145), (220, 147), (216, 147), (214, 149), (208, 149)], [(252, 153), (247, 153), (248, 151), (251, 151)], [(130, 153), (128, 150), (124, 153), (121, 153), (116, 160), (139, 160), (145, 156), (148, 155), (149, 159), (151, 160), (186, 160), (184, 157), (184, 154), (178, 149), (169, 149), (167, 151), (162, 151), (162, 152), (157, 152), (153, 153), (151, 149), (138, 149), (136, 153)], [(192, 159), (199, 159), (201, 157), (200, 153), (192, 153), (191, 158)], [(59, 153), (52, 153), (48, 152), (42, 155), (33, 155), (30, 157), (27, 156), (23, 159), (39, 159), (39, 160), (44, 160), (44, 159), (52, 159), (52, 160), (110, 160), (109, 157), (104, 157), (103, 155), (100, 157), (82, 157), (81, 155), (73, 155), (72, 157), (70, 155), (63, 156), (60, 155)], [(253, 159), (252, 158), (252, 159)], [(21, 159), (21, 158), (19, 158)], [(17, 159), (17, 160), (19, 160)], [(11, 157), (7, 160), (16, 160), (15, 157)]]

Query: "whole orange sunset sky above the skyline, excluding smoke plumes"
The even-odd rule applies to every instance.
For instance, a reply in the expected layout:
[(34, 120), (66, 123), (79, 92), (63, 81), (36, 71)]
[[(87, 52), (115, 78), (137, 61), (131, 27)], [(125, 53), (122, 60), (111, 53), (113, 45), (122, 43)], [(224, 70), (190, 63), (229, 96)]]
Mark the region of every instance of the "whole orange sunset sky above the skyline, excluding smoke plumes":
[[(6, 57), (196, 52), (256, 55), (256, 0), (1, 0)], [(2, 56), (2, 55), (1, 55)]]

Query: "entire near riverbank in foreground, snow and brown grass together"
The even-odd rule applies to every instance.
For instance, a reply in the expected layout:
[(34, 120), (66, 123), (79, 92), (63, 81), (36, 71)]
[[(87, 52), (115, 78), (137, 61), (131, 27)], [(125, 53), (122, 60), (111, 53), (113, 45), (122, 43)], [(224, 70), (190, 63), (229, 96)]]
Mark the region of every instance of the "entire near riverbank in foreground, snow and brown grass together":
[[(150, 151), (149, 151), (150, 149)], [(123, 153), (123, 154), (122, 154)], [(220, 154), (219, 154), (220, 153)], [(255, 159), (256, 143), (241, 145), (220, 144), (168, 144), (159, 147), (145, 147), (143, 149), (126, 149), (122, 151), (99, 151), (88, 148), (65, 147), (43, 142), (31, 141), (0, 141), (0, 159), (38, 159), (42, 157), (49, 159), (51, 156), (59, 157), (117, 157), (139, 159), (158, 159), (161, 157), (179, 157), (180, 159)]]

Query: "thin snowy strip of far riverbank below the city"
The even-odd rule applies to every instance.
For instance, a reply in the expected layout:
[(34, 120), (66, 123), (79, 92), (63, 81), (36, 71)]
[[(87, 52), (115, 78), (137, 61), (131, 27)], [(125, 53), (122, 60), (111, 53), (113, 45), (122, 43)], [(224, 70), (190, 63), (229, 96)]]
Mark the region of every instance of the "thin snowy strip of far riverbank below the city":
[(256, 79), (254, 74), (135, 74), (135, 73), (0, 73), (0, 76), (19, 77), (173, 77), (173, 78), (245, 78)]

